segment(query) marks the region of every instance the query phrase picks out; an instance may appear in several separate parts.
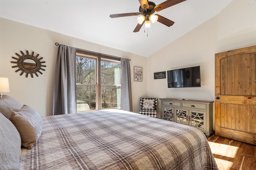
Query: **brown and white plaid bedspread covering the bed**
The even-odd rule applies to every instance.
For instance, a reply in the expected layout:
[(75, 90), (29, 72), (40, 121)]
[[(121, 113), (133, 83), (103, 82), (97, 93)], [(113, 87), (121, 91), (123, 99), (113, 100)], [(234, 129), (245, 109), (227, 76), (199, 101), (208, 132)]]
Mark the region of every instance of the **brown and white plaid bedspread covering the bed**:
[(218, 169), (205, 135), (179, 123), (106, 110), (48, 116), (43, 123), (37, 144), (22, 149), (21, 169)]

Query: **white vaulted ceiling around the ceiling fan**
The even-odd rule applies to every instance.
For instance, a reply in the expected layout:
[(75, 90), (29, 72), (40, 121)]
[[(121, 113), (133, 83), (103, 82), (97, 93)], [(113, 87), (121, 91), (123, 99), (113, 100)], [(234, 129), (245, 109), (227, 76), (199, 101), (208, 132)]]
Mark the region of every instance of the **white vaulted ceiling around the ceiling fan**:
[[(165, 0), (152, 0), (156, 5)], [(138, 0), (0, 0), (0, 17), (148, 57), (218, 14), (232, 0), (186, 0), (155, 12), (174, 21), (133, 30), (136, 17), (110, 14), (139, 12)]]

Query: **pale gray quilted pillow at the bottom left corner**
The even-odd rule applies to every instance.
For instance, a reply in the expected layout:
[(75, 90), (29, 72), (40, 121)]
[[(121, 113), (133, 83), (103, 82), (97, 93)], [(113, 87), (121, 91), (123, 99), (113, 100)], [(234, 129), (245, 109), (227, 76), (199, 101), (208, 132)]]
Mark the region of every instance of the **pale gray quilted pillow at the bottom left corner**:
[(0, 169), (17, 170), (20, 160), (20, 134), (16, 127), (0, 113)]

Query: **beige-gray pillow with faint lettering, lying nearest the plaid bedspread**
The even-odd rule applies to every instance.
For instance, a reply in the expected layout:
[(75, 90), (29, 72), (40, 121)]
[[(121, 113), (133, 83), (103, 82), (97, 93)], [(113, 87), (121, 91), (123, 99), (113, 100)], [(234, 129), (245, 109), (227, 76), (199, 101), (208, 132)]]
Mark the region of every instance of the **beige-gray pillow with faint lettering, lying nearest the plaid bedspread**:
[(12, 112), (9, 119), (20, 133), (22, 146), (32, 149), (42, 132), (40, 115), (31, 107), (23, 105), (19, 111)]

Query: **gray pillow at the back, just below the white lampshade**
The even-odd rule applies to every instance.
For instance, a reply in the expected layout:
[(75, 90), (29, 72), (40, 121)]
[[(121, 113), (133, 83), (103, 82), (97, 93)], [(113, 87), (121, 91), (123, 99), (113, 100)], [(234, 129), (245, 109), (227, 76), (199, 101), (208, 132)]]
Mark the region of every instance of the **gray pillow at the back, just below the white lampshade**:
[(8, 95), (1, 95), (0, 98), (0, 112), (5, 116), (9, 117), (13, 111), (18, 111), (22, 105), (16, 99)]

